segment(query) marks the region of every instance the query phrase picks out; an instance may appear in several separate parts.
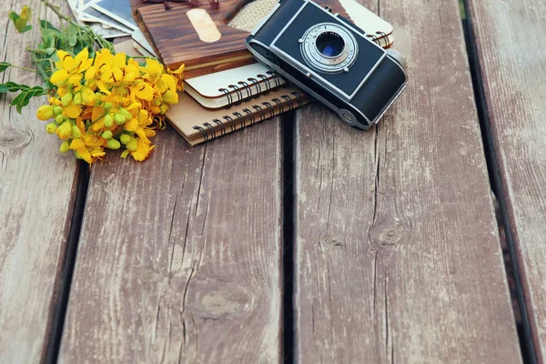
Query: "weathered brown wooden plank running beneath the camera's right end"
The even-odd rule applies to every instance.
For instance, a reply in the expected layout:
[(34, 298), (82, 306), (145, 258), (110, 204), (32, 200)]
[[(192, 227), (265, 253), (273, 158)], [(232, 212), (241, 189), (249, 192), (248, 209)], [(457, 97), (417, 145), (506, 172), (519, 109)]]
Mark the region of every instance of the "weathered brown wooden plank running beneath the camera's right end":
[(378, 4), (405, 94), (376, 132), (298, 111), (297, 361), (521, 362), (458, 2)]

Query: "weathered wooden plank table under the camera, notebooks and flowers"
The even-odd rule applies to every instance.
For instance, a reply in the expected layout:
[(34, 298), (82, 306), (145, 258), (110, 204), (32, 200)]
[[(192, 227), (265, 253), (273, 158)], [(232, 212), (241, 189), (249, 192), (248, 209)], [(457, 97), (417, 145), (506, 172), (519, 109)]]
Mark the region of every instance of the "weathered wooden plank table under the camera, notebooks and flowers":
[(369, 132), (315, 104), (89, 172), (2, 96), (0, 361), (543, 362), (546, 3), (362, 3), (410, 64)]

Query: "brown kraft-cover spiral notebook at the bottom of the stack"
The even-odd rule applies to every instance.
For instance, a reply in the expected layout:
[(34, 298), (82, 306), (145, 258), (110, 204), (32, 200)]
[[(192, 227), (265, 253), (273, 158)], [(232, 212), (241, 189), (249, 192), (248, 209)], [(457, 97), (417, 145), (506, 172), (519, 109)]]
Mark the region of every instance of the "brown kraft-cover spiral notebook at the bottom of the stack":
[(206, 109), (184, 92), (180, 93), (178, 104), (169, 107), (166, 116), (178, 133), (190, 145), (196, 146), (306, 105), (309, 101), (309, 96), (303, 91), (285, 86), (240, 101), (228, 109)]

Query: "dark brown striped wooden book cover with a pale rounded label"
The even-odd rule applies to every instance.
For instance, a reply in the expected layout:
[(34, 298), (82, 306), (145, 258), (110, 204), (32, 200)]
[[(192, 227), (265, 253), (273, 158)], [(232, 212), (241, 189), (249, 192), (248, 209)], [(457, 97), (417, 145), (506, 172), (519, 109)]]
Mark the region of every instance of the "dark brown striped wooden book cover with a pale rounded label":
[[(256, 62), (245, 46), (249, 32), (225, 25), (220, 20), (236, 2), (220, 0), (219, 8), (214, 10), (208, 0), (200, 0), (198, 7), (207, 10), (222, 35), (215, 43), (199, 39), (187, 17), (187, 11), (192, 9), (189, 5), (168, 2), (172, 9), (166, 10), (164, 4), (131, 0), (131, 6), (136, 24), (154, 46), (160, 60), (169, 68), (185, 64), (184, 76), (191, 78)], [(319, 0), (319, 4), (329, 5), (333, 13), (350, 19), (339, 0)]]

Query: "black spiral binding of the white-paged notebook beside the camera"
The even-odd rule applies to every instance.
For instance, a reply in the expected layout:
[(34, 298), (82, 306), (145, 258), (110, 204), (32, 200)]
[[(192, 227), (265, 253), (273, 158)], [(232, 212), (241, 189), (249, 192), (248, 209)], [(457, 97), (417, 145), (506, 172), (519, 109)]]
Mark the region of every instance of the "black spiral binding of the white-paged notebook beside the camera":
[[(248, 77), (246, 81), (238, 81), (237, 85), (218, 88), (218, 91), (227, 97), (225, 108), (229, 108), (278, 90), (282, 86), (280, 79), (275, 71), (268, 71), (266, 75), (259, 74), (256, 77)], [(258, 92), (252, 92), (253, 88), (258, 89)]]

